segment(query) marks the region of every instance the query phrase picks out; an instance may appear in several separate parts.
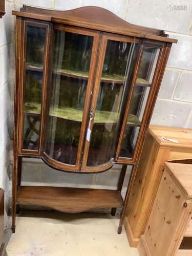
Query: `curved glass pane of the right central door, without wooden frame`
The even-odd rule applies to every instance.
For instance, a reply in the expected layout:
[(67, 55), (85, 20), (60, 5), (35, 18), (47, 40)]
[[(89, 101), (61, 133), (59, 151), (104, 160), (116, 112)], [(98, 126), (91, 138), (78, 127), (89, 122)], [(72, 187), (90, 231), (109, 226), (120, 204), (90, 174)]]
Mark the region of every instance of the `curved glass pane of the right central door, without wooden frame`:
[(101, 165), (114, 157), (121, 109), (130, 91), (137, 54), (138, 45), (108, 40), (87, 166)]

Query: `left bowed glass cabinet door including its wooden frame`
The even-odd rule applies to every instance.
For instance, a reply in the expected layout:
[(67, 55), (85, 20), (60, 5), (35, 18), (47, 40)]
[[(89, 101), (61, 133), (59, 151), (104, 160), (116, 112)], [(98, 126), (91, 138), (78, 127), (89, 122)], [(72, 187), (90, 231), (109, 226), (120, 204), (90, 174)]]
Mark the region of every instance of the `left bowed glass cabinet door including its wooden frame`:
[(80, 170), (99, 33), (55, 25), (48, 88), (44, 159)]

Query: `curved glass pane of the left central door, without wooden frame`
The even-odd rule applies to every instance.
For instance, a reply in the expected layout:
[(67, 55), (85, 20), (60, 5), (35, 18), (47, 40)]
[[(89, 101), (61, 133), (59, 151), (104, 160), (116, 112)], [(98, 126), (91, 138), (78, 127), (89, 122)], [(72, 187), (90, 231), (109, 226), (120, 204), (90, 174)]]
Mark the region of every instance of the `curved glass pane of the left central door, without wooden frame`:
[(93, 36), (54, 31), (54, 58), (46, 153), (76, 164)]

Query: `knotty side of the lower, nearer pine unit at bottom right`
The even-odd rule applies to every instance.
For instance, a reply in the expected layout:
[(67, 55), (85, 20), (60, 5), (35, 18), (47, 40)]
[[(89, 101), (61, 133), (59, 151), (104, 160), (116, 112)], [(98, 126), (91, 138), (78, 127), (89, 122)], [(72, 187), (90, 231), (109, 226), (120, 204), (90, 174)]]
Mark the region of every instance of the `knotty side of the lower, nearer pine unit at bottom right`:
[(165, 171), (144, 235), (139, 242), (141, 253), (144, 250), (146, 255), (175, 255), (190, 218), (190, 201), (186, 201), (181, 189)]

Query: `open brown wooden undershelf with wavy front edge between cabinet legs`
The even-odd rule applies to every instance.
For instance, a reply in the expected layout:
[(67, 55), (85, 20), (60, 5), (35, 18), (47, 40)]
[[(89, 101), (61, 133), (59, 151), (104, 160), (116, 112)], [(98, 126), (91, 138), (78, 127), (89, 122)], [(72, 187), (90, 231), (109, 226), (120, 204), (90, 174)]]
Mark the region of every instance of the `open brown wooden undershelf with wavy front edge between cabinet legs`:
[(106, 207), (122, 207), (119, 191), (107, 189), (20, 186), (18, 204), (47, 206), (65, 212), (82, 212)]

